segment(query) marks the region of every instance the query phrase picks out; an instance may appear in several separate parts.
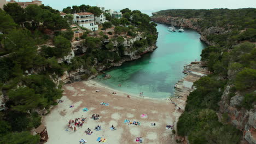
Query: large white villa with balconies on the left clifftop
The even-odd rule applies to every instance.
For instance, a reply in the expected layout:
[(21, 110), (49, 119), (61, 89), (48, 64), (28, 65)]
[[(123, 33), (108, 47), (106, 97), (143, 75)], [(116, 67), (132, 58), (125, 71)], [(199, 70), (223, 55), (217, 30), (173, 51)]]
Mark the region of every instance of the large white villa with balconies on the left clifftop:
[(76, 13), (73, 21), (80, 27), (85, 27), (92, 31), (98, 30), (98, 25), (95, 25), (94, 14), (92, 13)]

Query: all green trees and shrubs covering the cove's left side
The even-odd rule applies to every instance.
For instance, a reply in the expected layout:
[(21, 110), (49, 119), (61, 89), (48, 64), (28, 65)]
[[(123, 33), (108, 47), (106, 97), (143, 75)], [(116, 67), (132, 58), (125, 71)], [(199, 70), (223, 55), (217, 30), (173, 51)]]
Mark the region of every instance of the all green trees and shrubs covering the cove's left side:
[[(67, 14), (74, 11), (102, 13), (99, 8), (89, 5), (63, 9)], [(144, 15), (144, 19), (149, 17)], [(108, 32), (112, 35), (109, 38), (106, 32), (100, 32), (96, 37), (90, 37), (89, 32), (85, 32), (80, 38), (84, 39), (86, 55), (77, 50), (77, 56), (65, 61), (64, 57), (71, 54), (71, 20), (71, 15), (62, 18), (58, 10), (45, 5), (28, 5), (22, 9), (16, 3), (8, 3), (4, 11), (0, 9), (0, 56), (3, 56), (0, 58), (0, 93), (9, 98), (5, 101), (7, 110), (0, 112), (0, 143), (39, 143), (39, 136), (32, 136), (29, 131), (41, 124), (38, 111), (48, 112), (49, 107), (56, 105), (56, 100), (62, 97), (62, 85), (57, 79), (64, 71), (83, 68), (86, 70), (83, 78), (88, 79), (97, 74), (98, 67), (110, 67), (110, 63), (119, 62), (126, 49), (125, 39), (119, 37), (120, 34), (126, 37), (129, 33), (131, 38), (141, 32), (143, 38), (132, 47), (138, 53), (146, 46), (154, 45), (157, 38), (155, 25), (149, 21), (135, 25), (130, 19), (122, 18), (117, 20), (119, 24), (115, 28), (119, 35)], [(106, 22), (103, 28), (112, 25), (112, 22)], [(142, 25), (149, 27), (139, 29)]]

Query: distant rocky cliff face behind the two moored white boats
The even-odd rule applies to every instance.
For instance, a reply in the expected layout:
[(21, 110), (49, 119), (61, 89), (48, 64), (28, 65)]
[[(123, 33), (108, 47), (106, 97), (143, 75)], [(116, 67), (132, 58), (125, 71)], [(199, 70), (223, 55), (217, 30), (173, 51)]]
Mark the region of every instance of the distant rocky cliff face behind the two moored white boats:
[(195, 31), (201, 34), (201, 40), (205, 41), (208, 45), (214, 45), (211, 41), (207, 40), (207, 35), (209, 34), (220, 34), (225, 33), (226, 31), (224, 28), (221, 27), (209, 27), (207, 29), (203, 29), (199, 27), (196, 22), (200, 19), (184, 19), (183, 17), (171, 17), (171, 16), (152, 16), (151, 20), (158, 23), (164, 23), (167, 25), (173, 25), (175, 27), (183, 27), (183, 28), (190, 28), (194, 29)]

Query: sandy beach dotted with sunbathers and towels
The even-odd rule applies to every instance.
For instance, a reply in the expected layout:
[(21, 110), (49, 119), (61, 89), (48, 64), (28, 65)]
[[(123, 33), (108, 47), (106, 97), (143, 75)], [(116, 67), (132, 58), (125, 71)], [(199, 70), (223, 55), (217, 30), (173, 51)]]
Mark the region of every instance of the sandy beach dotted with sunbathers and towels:
[[(79, 143), (84, 139), (88, 143), (99, 143), (98, 137), (107, 139), (108, 143), (139, 143), (136, 137), (141, 136), (143, 143), (172, 143), (174, 136), (171, 129), (166, 129), (166, 125), (176, 126), (176, 121), (181, 112), (175, 109), (170, 100), (139, 98), (131, 95), (127, 98), (127, 93), (114, 91), (101, 86), (95, 81), (74, 82), (63, 86), (63, 103), (59, 103), (43, 119), (43, 124), (47, 127), (49, 140), (53, 143)], [(100, 92), (96, 92), (99, 89)], [(118, 90), (118, 89), (117, 89)], [(112, 94), (117, 92), (117, 94)], [(100, 103), (109, 103), (109, 106)], [(70, 105), (74, 107), (69, 108)], [(84, 112), (87, 107), (89, 111)], [(99, 114), (100, 119), (90, 118), (92, 114)], [(147, 118), (141, 115), (146, 114)], [(77, 131), (68, 129), (69, 119), (86, 117), (82, 128)], [(138, 121), (141, 125), (124, 123), (125, 119)], [(152, 126), (151, 123), (156, 123)], [(96, 131), (94, 128), (101, 125), (102, 130)], [(114, 125), (117, 130), (111, 130)], [(90, 128), (92, 135), (86, 135), (84, 131)], [(101, 142), (102, 143), (102, 142)]]

